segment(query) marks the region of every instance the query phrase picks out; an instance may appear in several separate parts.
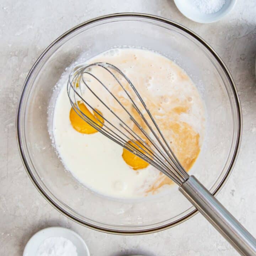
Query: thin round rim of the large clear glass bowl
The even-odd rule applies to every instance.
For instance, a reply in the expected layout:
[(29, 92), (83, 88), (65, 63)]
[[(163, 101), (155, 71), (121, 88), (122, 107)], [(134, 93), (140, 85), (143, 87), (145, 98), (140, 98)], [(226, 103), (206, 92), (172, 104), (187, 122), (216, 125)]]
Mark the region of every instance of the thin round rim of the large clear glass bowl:
[(242, 135), (242, 111), (241, 111), (241, 104), (240, 104), (240, 100), (239, 100), (239, 95), (238, 95), (238, 91), (236, 89), (234, 80), (228, 70), (228, 68), (226, 67), (226, 65), (224, 64), (223, 60), (219, 57), (219, 55), (213, 50), (212, 47), (209, 46), (209, 44), (204, 41), (201, 37), (199, 37), (196, 33), (194, 33), (193, 31), (189, 30), (188, 28), (186, 28), (185, 26), (180, 25), (177, 22), (168, 20), (166, 18), (163, 17), (159, 17), (159, 16), (155, 16), (155, 15), (150, 15), (150, 14), (143, 14), (143, 13), (133, 13), (133, 12), (126, 12), (126, 13), (116, 13), (116, 14), (109, 14), (109, 15), (104, 15), (104, 16), (99, 16), (96, 18), (93, 18), (91, 20), (85, 21), (83, 23), (80, 23), (79, 25), (71, 28), (70, 30), (66, 31), (65, 33), (63, 33), (61, 36), (59, 36), (57, 39), (55, 39), (55, 41), (53, 41), (53, 43), (51, 43), (44, 51), (43, 53), (38, 57), (38, 59), (36, 60), (36, 62), (33, 64), (31, 70), (29, 71), (26, 80), (24, 82), (22, 91), (21, 91), (21, 95), (19, 98), (19, 102), (18, 102), (18, 107), (17, 107), (17, 115), (16, 115), (16, 135), (17, 135), (17, 144), (18, 144), (18, 150), (21, 156), (21, 160), (23, 162), (23, 166), (25, 167), (25, 170), (28, 174), (28, 176), (30, 177), (32, 183), (34, 184), (34, 186), (37, 188), (37, 190), (42, 194), (42, 196), (55, 208), (57, 209), (60, 213), (64, 214), (66, 217), (68, 217), (69, 219), (73, 220), (76, 223), (79, 223), (83, 226), (86, 226), (88, 228), (97, 230), (97, 231), (102, 231), (105, 233), (110, 233), (110, 234), (119, 234), (119, 235), (139, 235), (139, 234), (149, 234), (149, 233), (154, 233), (154, 232), (158, 232), (158, 231), (162, 231), (168, 228), (171, 228), (173, 226), (176, 226), (182, 222), (184, 222), (185, 220), (190, 219), (191, 217), (193, 217), (198, 211), (197, 209), (192, 210), (190, 213), (186, 214), (184, 217), (175, 220), (172, 223), (169, 224), (165, 224), (162, 226), (158, 226), (156, 228), (149, 228), (149, 229), (142, 229), (142, 230), (128, 230), (128, 231), (124, 231), (124, 230), (117, 230), (117, 229), (109, 229), (109, 228), (102, 228), (101, 226), (97, 226), (94, 224), (90, 224), (87, 222), (84, 222), (78, 218), (76, 218), (75, 216), (69, 214), (68, 212), (66, 212), (64, 209), (62, 209), (57, 203), (55, 203), (48, 195), (46, 192), (44, 192), (42, 190), (42, 188), (39, 186), (37, 180), (34, 178), (29, 164), (27, 162), (27, 159), (25, 157), (25, 153), (23, 151), (23, 145), (22, 145), (22, 135), (21, 135), (21, 129), (20, 129), (20, 121), (21, 121), (21, 108), (22, 108), (22, 103), (23, 103), (23, 99), (26, 93), (26, 89), (28, 86), (28, 83), (30, 81), (30, 79), (33, 76), (34, 71), (36, 70), (37, 66), (39, 65), (39, 63), (42, 61), (42, 59), (44, 58), (44, 56), (49, 52), (50, 49), (52, 49), (56, 44), (58, 44), (60, 41), (62, 41), (63, 38), (65, 38), (66, 36), (68, 36), (69, 34), (75, 32), (76, 30), (79, 30), (82, 27), (85, 27), (91, 23), (97, 22), (97, 21), (102, 21), (102, 20), (108, 20), (110, 18), (122, 18), (122, 17), (138, 17), (138, 18), (147, 18), (147, 19), (151, 19), (151, 20), (156, 20), (156, 21), (161, 21), (163, 23), (167, 23), (168, 25), (174, 26), (176, 28), (179, 28), (180, 30), (188, 33), (190, 36), (192, 36), (194, 39), (196, 39), (199, 43), (201, 43), (207, 50), (209, 50), (209, 52), (213, 55), (213, 57), (218, 61), (218, 63), (220, 64), (220, 66), (222, 67), (224, 73), (226, 74), (231, 89), (233, 91), (234, 94), (234, 99), (235, 99), (235, 103), (236, 103), (236, 109), (238, 112), (238, 135), (236, 137), (236, 142), (235, 142), (235, 151), (234, 151), (234, 155), (231, 159), (231, 162), (229, 164), (228, 170), (225, 173), (224, 177), (222, 178), (222, 180), (220, 181), (219, 185), (215, 188), (215, 190), (213, 191), (213, 195), (216, 196), (219, 191), (221, 190), (221, 188), (224, 186), (224, 184), (226, 183), (226, 181), (228, 180), (231, 171), (234, 168), (236, 159), (238, 157), (238, 153), (239, 153), (239, 148), (240, 148), (240, 144), (241, 144), (241, 135)]

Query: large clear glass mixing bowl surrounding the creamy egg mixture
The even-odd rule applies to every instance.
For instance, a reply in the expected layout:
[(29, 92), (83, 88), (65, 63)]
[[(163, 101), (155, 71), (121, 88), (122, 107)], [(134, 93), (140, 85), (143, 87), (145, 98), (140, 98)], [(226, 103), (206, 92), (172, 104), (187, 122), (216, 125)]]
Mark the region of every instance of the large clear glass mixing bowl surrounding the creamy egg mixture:
[(155, 50), (174, 60), (193, 79), (206, 105), (207, 128), (190, 174), (216, 194), (230, 175), (241, 139), (241, 107), (234, 81), (202, 38), (156, 16), (103, 16), (72, 28), (54, 41), (25, 81), (17, 112), (18, 146), (34, 185), (67, 217), (110, 233), (149, 233), (177, 225), (196, 213), (177, 186), (164, 195), (133, 201), (103, 197), (65, 171), (48, 133), (50, 98), (65, 68), (82, 53), (90, 58), (118, 46)]

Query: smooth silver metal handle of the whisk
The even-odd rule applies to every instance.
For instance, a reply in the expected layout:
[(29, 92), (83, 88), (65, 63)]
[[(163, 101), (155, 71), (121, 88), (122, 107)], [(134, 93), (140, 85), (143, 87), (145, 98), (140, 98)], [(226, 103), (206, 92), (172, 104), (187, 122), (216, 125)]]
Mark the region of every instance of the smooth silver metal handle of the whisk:
[(194, 176), (179, 190), (241, 255), (256, 256), (255, 238)]

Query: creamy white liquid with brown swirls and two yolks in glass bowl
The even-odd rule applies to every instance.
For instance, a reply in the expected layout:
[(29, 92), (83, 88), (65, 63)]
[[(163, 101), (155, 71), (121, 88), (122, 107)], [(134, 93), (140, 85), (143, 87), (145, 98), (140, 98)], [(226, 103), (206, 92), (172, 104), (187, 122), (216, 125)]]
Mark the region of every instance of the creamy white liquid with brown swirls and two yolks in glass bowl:
[[(190, 170), (202, 146), (205, 114), (186, 72), (170, 59), (144, 49), (111, 49), (86, 61), (94, 62), (111, 63), (127, 75), (182, 166)], [(65, 168), (87, 188), (105, 196), (138, 198), (168, 190), (173, 184), (170, 178), (97, 132), (71, 108), (66, 91), (70, 71), (60, 80), (52, 124), (55, 148)], [(108, 82), (103, 74), (98, 75)], [(125, 95), (116, 93), (125, 104)], [(109, 100), (104, 93), (102, 100)], [(83, 103), (79, 107), (90, 118), (98, 117)], [(127, 119), (127, 124), (136, 132), (132, 121)]]

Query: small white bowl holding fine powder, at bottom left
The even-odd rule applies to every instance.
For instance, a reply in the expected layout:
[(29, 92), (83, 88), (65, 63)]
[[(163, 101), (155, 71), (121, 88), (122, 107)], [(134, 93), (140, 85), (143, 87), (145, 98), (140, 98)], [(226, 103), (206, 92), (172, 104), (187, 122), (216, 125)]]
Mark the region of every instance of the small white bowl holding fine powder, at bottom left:
[(30, 240), (28, 240), (23, 251), (23, 256), (35, 256), (38, 247), (42, 244), (42, 242), (45, 239), (53, 236), (61, 236), (70, 240), (75, 245), (78, 256), (90, 256), (89, 249), (81, 236), (70, 229), (61, 227), (45, 228), (34, 234)]

